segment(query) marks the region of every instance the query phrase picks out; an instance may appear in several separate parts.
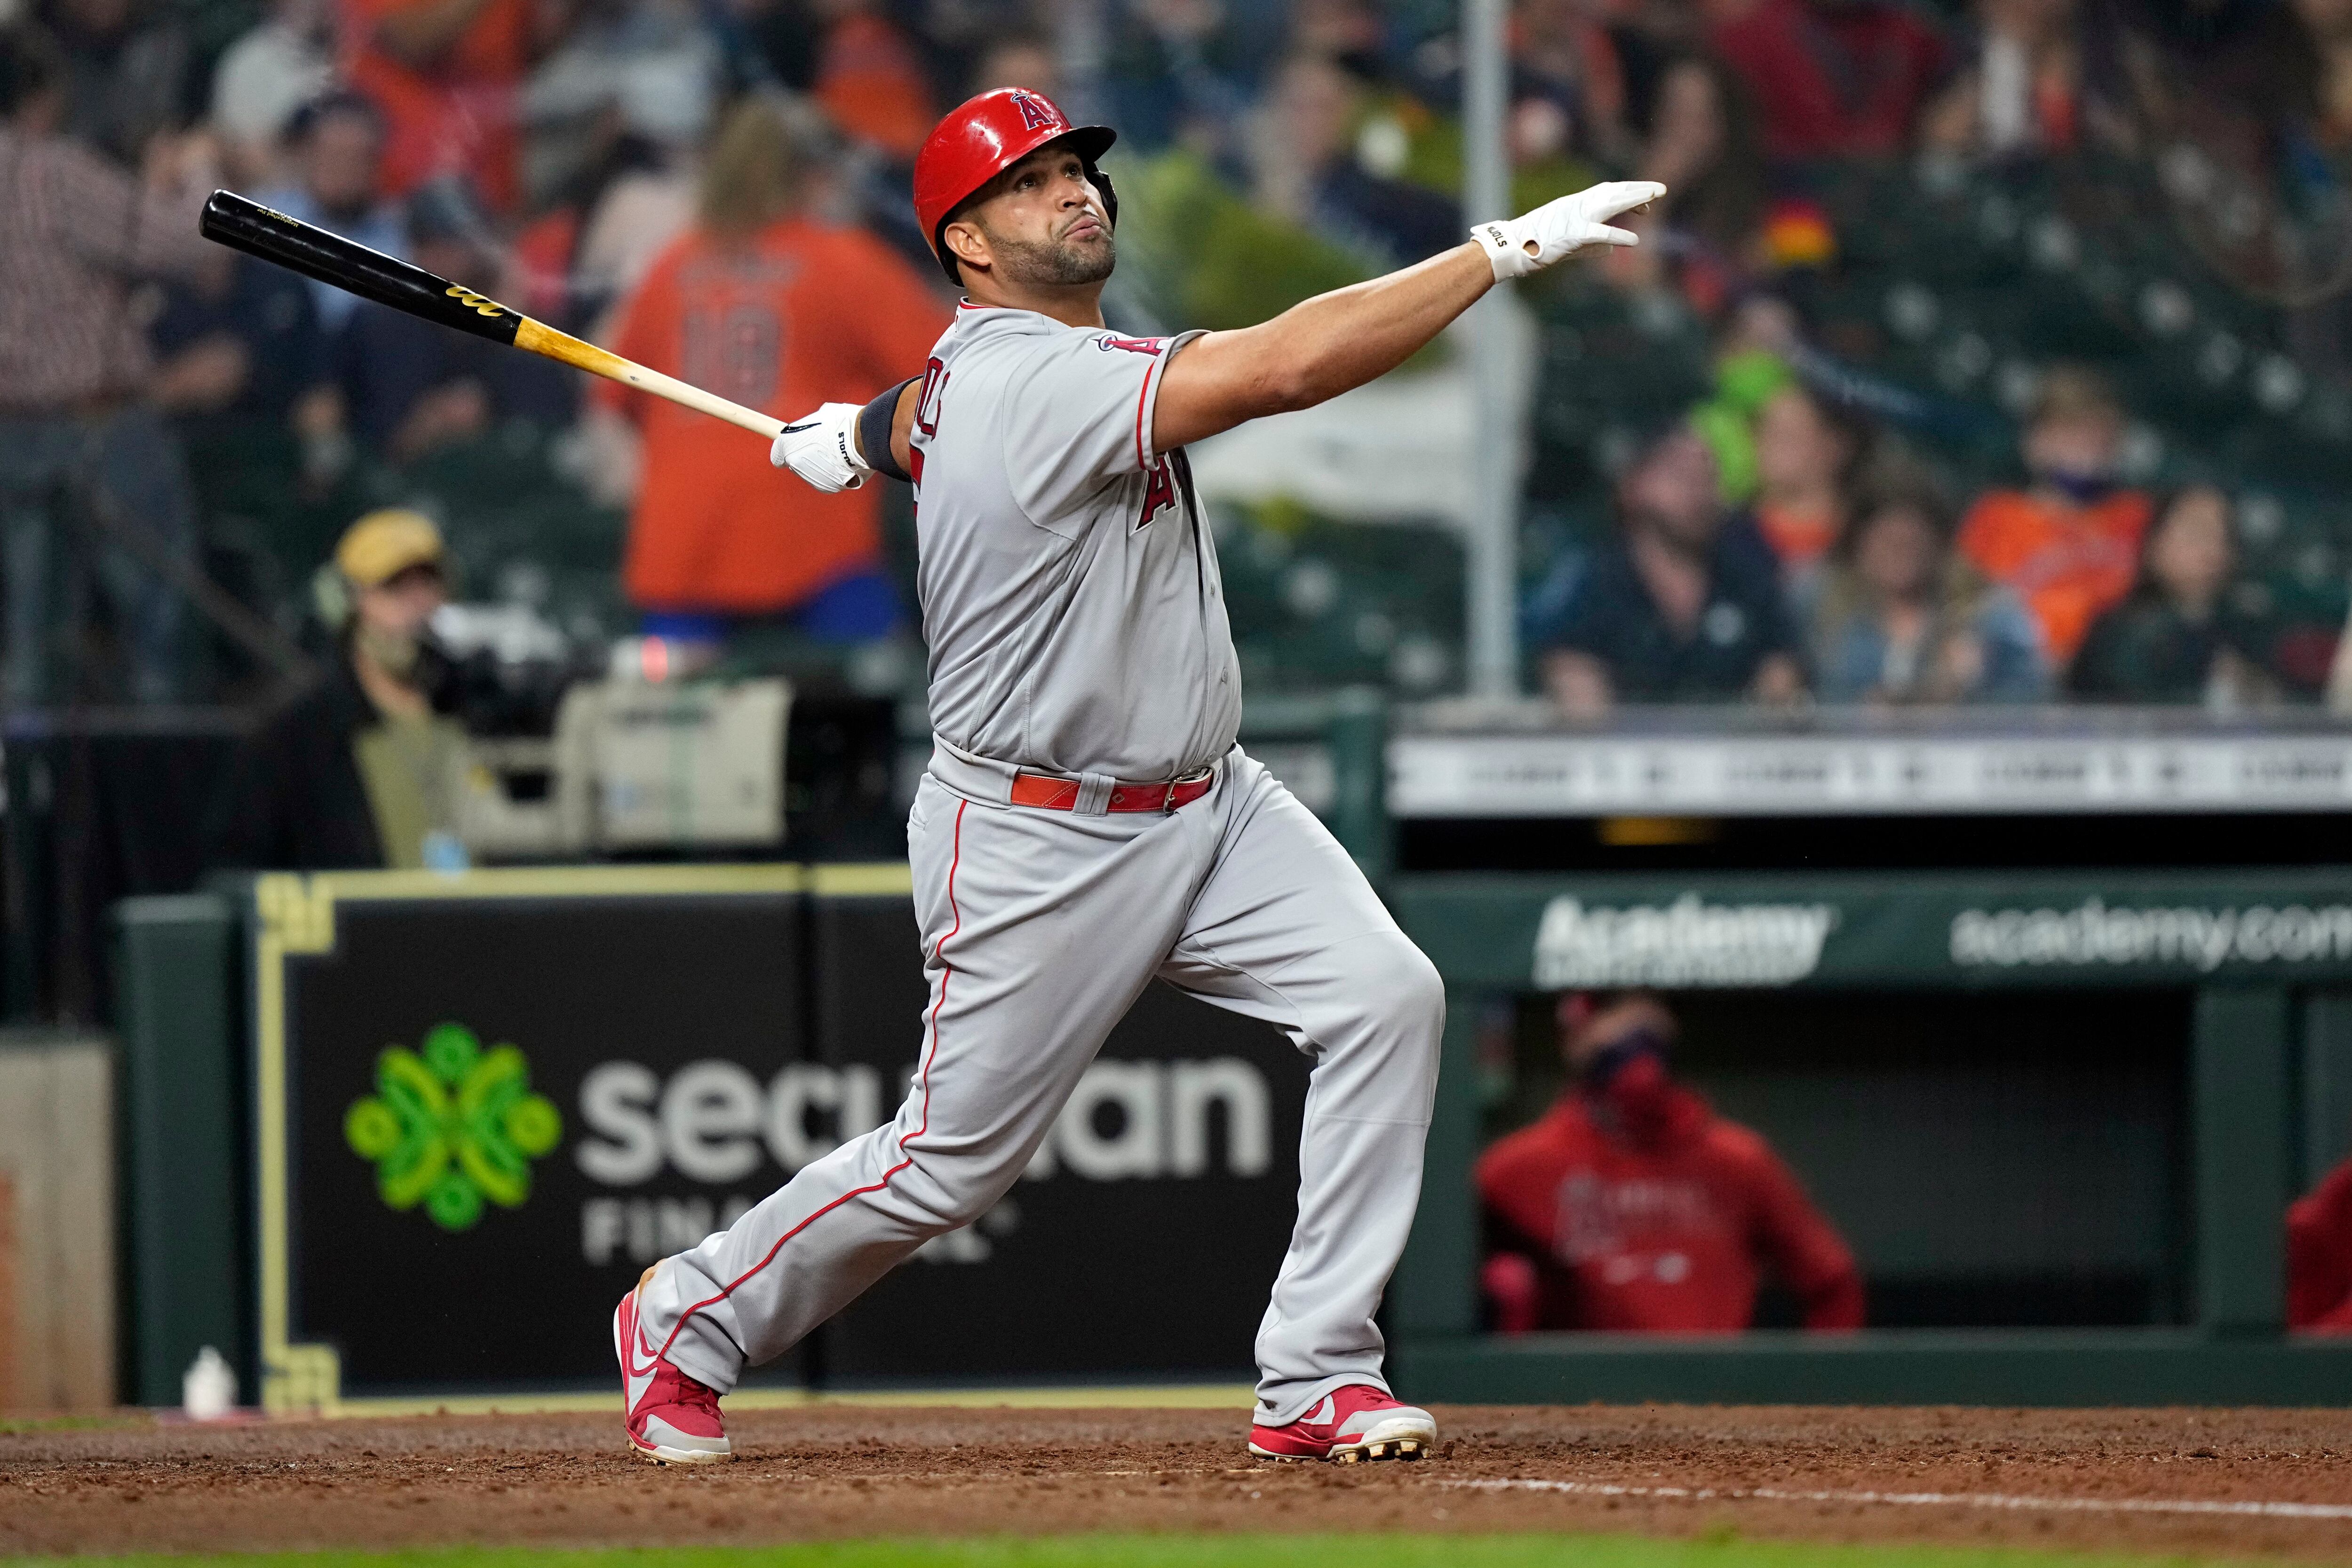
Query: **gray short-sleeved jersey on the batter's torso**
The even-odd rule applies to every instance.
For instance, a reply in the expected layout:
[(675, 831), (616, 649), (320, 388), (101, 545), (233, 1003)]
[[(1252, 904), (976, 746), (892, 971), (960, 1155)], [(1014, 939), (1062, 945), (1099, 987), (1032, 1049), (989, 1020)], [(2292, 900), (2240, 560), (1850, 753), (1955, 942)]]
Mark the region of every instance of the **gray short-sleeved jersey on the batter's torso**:
[(1155, 780), (1225, 755), (1242, 675), (1183, 451), (1152, 447), (1169, 357), (964, 303), (915, 409), (931, 731), (976, 757)]

